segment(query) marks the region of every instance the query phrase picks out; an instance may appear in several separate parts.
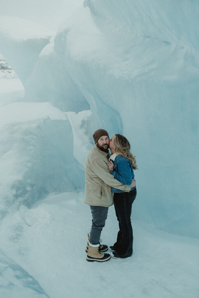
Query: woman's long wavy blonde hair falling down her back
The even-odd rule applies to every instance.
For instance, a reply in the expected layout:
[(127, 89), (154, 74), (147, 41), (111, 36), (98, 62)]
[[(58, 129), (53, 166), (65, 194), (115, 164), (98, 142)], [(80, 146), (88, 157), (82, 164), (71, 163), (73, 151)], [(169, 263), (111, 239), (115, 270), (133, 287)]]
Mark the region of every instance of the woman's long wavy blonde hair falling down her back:
[(134, 170), (138, 169), (138, 166), (136, 164), (135, 156), (132, 155), (130, 152), (131, 145), (127, 138), (125, 136), (122, 136), (121, 134), (115, 134), (114, 139), (114, 151), (117, 154), (120, 154), (126, 158), (129, 159), (130, 163), (132, 164), (132, 167)]

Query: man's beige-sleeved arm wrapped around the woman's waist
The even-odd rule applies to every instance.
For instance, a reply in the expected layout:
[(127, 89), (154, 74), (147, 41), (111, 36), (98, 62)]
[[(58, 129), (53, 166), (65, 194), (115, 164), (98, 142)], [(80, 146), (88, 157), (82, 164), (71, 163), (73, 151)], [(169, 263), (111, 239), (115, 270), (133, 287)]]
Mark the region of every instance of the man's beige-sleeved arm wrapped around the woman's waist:
[(112, 186), (119, 190), (123, 190), (123, 191), (127, 191), (127, 192), (129, 192), (131, 190), (131, 185), (125, 185), (125, 184), (119, 182), (118, 180), (116, 180), (114, 178), (113, 175), (111, 175), (111, 173), (109, 173), (108, 160), (106, 163), (101, 158), (94, 159), (91, 164), (91, 168), (92, 168), (93, 172), (109, 186)]

